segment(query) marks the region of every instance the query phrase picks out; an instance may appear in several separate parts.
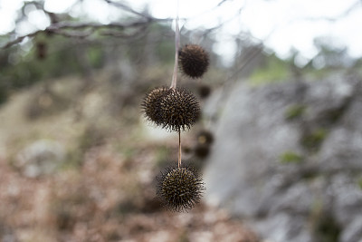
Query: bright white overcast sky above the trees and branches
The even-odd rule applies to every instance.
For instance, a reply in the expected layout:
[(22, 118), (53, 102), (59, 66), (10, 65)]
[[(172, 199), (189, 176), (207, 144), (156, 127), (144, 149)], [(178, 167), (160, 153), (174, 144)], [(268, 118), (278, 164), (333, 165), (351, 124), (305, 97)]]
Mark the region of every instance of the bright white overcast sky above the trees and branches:
[[(117, 0), (115, 0), (116, 2)], [(103, 24), (115, 21), (119, 9), (110, 7), (104, 0), (45, 0), (45, 9), (55, 13), (71, 13), (94, 19)], [(142, 11), (148, 5), (151, 15), (158, 18), (176, 16), (176, 0), (120, 1)], [(215, 7), (221, 0), (181, 0), (178, 14), (187, 18), (188, 29), (211, 28), (226, 22), (218, 32), (217, 53), (224, 54), (225, 61), (235, 53), (233, 36), (241, 30), (260, 39), (280, 57), (287, 57), (291, 49), (300, 51), (301, 60), (312, 58), (317, 49), (316, 37), (330, 37), (337, 47), (348, 47), (352, 57), (362, 56), (362, 1), (360, 0), (229, 0)], [(22, 0), (0, 0), (0, 34), (14, 28), (15, 11)], [(353, 6), (352, 9), (350, 7)], [(345, 13), (348, 12), (348, 15)], [(336, 19), (333, 21), (332, 19)], [(41, 12), (30, 11), (28, 24), (18, 30), (22, 34), (43, 29), (48, 24)]]

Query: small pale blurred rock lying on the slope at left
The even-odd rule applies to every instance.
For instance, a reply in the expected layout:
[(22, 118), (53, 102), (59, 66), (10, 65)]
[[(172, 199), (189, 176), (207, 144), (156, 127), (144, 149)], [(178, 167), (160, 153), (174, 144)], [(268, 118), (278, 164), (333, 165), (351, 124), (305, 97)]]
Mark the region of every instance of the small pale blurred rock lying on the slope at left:
[(57, 141), (36, 140), (15, 157), (14, 166), (24, 176), (35, 178), (54, 172), (64, 162), (65, 151)]

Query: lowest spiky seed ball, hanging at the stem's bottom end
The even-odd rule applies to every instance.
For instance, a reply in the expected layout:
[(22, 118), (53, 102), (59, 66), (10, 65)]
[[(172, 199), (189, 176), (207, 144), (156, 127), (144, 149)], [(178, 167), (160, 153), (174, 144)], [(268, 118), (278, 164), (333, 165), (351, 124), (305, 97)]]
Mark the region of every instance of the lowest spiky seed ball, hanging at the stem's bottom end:
[(203, 180), (192, 167), (168, 167), (157, 177), (157, 197), (176, 212), (194, 208), (204, 190)]

